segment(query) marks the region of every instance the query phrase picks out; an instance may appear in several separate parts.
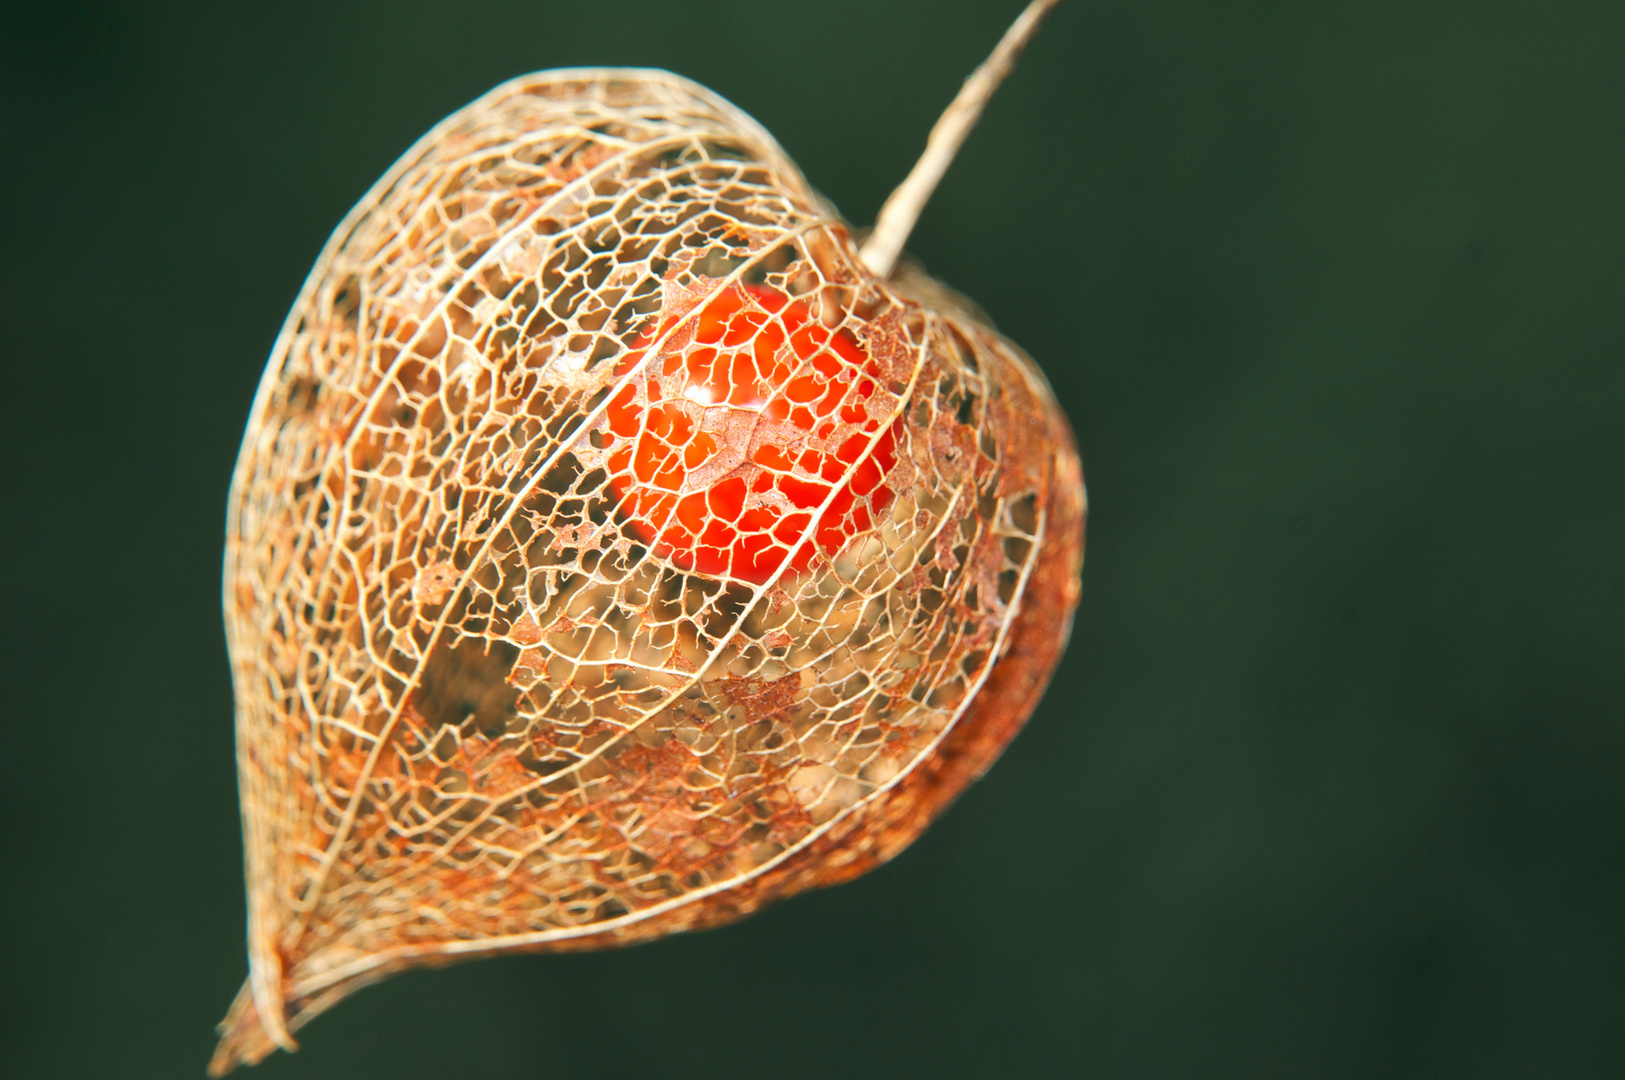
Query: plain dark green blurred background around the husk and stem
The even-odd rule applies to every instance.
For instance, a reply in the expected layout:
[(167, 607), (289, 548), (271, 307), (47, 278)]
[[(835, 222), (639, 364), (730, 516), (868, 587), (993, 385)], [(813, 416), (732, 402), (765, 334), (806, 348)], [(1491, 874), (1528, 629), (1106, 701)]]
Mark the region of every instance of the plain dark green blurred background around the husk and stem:
[[(200, 1077), (244, 976), (226, 482), (374, 177), (652, 65), (868, 222), (1019, 6), (6, 5), (0, 1072)], [(1027, 732), (856, 883), (250, 1075), (1625, 1075), (1625, 6), (1072, 0), (910, 247), (1084, 450)]]

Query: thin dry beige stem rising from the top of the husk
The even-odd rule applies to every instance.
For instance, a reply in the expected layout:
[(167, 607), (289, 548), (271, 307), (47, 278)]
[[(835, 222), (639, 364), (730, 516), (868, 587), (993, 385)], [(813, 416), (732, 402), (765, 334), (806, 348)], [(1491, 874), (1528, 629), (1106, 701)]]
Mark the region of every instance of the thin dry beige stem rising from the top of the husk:
[(977, 127), (977, 120), (982, 119), (982, 110), (986, 107), (988, 99), (993, 97), (993, 91), (1016, 68), (1017, 57), (1027, 47), (1027, 42), (1032, 41), (1032, 36), (1038, 32), (1043, 16), (1060, 2), (1032, 0), (1027, 10), (1004, 31), (1004, 37), (994, 45), (993, 54), (982, 62), (982, 67), (970, 73), (959, 94), (942, 110), (942, 115), (931, 128), (931, 135), (926, 138), (925, 153), (920, 154), (920, 161), (915, 162), (915, 167), (897, 185), (897, 190), (890, 193), (886, 205), (881, 206), (881, 214), (874, 219), (874, 232), (869, 234), (869, 239), (858, 250), (858, 258), (869, 268), (869, 273), (878, 278), (890, 276), (892, 266), (897, 265), (897, 257), (902, 255), (904, 242), (913, 232), (913, 226), (920, 219), (920, 211), (925, 210), (942, 174), (947, 172), (947, 166), (954, 161), (954, 154), (959, 153), (960, 143), (970, 135), (970, 128)]

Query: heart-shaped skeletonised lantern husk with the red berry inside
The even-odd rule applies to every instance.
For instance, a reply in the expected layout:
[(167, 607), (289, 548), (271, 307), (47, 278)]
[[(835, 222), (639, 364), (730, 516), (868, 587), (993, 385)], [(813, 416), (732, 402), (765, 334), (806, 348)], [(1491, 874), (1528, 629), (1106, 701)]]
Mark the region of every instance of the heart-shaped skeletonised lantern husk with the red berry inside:
[(1035, 365), (728, 102), (575, 70), (453, 114), (322, 253), (232, 481), (213, 1072), (403, 968), (897, 854), (1035, 705), (1082, 518)]

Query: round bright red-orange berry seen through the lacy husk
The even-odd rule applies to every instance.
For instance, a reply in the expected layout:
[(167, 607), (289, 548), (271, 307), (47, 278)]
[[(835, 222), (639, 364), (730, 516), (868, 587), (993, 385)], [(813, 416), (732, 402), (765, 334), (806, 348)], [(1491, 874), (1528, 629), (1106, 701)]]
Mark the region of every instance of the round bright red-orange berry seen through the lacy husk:
[(681, 322), (639, 336), (619, 365), (637, 377), (606, 411), (626, 528), (684, 570), (756, 585), (868, 531), (894, 499), (902, 421), (876, 408), (852, 331), (764, 284), (731, 284)]

